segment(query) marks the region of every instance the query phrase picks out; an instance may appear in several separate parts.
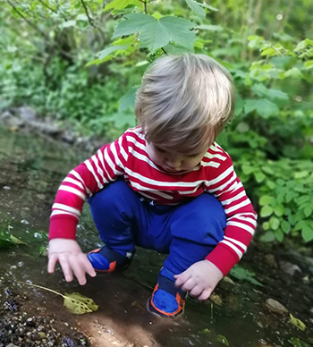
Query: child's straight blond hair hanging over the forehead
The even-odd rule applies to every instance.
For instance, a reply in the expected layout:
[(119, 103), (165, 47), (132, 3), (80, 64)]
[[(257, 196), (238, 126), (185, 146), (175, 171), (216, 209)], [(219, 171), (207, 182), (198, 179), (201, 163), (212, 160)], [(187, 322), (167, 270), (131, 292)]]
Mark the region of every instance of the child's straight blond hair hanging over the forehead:
[(158, 58), (145, 72), (135, 101), (148, 141), (182, 152), (207, 145), (233, 116), (229, 72), (207, 55)]

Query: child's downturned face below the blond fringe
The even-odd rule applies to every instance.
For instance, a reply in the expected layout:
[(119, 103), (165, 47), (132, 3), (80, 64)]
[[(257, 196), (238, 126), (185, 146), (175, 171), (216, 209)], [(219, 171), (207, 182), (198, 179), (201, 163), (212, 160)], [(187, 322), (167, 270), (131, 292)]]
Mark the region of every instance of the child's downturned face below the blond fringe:
[(152, 142), (147, 142), (148, 156), (155, 164), (171, 174), (191, 170), (199, 165), (208, 148), (209, 145), (206, 145), (190, 153), (179, 153), (168, 151), (165, 146), (155, 146)]

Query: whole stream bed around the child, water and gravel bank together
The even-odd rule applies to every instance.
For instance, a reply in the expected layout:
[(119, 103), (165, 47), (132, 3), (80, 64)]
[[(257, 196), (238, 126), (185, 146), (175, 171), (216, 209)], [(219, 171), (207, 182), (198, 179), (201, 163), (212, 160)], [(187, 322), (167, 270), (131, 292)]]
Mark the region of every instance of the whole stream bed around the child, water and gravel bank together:
[[(184, 316), (173, 320), (146, 310), (165, 258), (155, 251), (138, 249), (123, 273), (98, 274), (84, 286), (66, 283), (60, 268), (48, 275), (45, 249), (55, 192), (64, 175), (90, 154), (0, 128), (0, 233), (23, 242), (0, 240), (0, 347), (313, 346), (309, 247), (287, 250), (252, 241), (241, 268), (218, 284), (209, 300), (187, 299)], [(88, 204), (78, 241), (86, 252), (99, 245)], [(21, 282), (80, 292), (99, 309), (73, 315), (61, 296)]]

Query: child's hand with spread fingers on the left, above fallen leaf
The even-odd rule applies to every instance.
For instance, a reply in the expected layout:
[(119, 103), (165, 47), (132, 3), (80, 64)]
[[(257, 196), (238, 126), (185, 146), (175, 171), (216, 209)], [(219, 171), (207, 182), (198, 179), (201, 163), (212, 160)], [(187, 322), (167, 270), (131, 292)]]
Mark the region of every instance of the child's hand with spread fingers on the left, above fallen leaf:
[(95, 277), (96, 272), (91, 266), (87, 255), (82, 253), (80, 245), (75, 240), (52, 239), (49, 241), (47, 272), (55, 272), (55, 264), (60, 263), (65, 280), (71, 282), (73, 275), (80, 285), (86, 284), (86, 274)]

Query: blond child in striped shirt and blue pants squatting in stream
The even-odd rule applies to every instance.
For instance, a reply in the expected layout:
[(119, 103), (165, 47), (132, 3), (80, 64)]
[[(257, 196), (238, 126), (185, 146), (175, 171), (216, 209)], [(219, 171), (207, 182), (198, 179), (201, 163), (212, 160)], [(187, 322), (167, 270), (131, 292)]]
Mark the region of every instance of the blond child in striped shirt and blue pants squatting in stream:
[[(206, 300), (247, 250), (256, 213), (216, 136), (233, 115), (230, 74), (206, 55), (168, 55), (144, 74), (140, 126), (70, 172), (52, 207), (48, 272), (65, 280), (129, 266), (135, 245), (168, 253), (148, 300), (163, 317), (182, 313), (186, 292)], [(75, 241), (85, 199), (100, 239)]]

